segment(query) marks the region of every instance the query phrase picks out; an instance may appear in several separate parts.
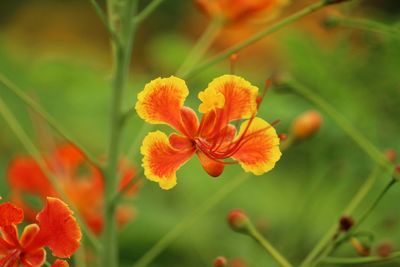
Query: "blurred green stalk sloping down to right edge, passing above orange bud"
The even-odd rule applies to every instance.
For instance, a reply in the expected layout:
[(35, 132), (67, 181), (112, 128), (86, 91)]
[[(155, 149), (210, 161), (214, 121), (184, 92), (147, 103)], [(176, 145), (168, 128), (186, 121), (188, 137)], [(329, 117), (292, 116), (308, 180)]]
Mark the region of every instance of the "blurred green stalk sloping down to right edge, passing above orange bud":
[[(353, 141), (378, 165), (382, 166), (386, 171), (393, 172), (393, 165), (387, 161), (383, 153), (379, 151), (354, 125), (349, 122), (342, 114), (340, 114), (331, 104), (322, 97), (311, 91), (309, 88), (296, 81), (290, 79), (288, 82), (290, 88), (303, 96), (305, 99), (313, 103), (320, 110), (324, 111), (336, 124), (349, 135)], [(400, 175), (395, 174), (398, 178)]]

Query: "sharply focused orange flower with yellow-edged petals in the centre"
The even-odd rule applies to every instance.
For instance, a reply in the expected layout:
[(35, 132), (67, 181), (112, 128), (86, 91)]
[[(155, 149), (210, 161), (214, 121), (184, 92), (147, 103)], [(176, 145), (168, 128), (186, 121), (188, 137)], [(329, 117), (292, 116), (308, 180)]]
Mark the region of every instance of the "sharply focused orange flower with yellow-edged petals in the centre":
[[(194, 154), (211, 176), (219, 176), (226, 164), (240, 163), (247, 172), (261, 175), (275, 166), (281, 156), (275, 129), (257, 113), (258, 88), (234, 75), (214, 79), (200, 92), (199, 122), (185, 107), (189, 90), (176, 77), (158, 78), (138, 95), (136, 111), (148, 123), (168, 124), (179, 134), (169, 137), (160, 131), (149, 133), (141, 153), (145, 176), (163, 189), (176, 184), (176, 171)], [(231, 122), (248, 119), (239, 129)], [(234, 161), (225, 161), (232, 158)]]

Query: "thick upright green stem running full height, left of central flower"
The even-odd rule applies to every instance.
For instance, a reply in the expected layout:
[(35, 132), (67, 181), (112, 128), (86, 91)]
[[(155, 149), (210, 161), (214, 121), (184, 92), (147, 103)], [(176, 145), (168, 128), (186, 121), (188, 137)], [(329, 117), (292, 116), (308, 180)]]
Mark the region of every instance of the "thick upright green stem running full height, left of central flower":
[[(121, 6), (124, 4), (124, 6)], [(120, 140), (123, 126), (122, 99), (123, 91), (129, 73), (132, 55), (132, 45), (136, 32), (136, 25), (131, 22), (135, 15), (137, 0), (118, 2), (107, 0), (108, 25), (116, 32), (120, 43), (112, 42), (114, 73), (112, 80), (112, 98), (110, 110), (110, 136), (108, 145), (108, 165), (105, 175), (102, 266), (118, 266), (118, 240), (115, 220), (115, 205), (113, 196), (117, 192), (118, 177), (117, 165), (120, 151)], [(118, 22), (118, 32), (115, 23)]]

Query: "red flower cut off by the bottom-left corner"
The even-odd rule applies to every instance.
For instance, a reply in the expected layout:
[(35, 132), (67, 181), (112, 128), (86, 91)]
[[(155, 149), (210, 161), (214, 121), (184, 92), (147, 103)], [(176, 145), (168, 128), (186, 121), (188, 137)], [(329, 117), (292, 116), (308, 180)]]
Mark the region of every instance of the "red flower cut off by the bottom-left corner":
[(37, 224), (27, 225), (18, 238), (17, 225), (24, 218), (22, 209), (11, 203), (0, 204), (0, 266), (42, 266), (46, 261), (45, 247), (56, 257), (70, 257), (80, 246), (82, 236), (72, 214), (64, 202), (48, 197), (36, 216)]

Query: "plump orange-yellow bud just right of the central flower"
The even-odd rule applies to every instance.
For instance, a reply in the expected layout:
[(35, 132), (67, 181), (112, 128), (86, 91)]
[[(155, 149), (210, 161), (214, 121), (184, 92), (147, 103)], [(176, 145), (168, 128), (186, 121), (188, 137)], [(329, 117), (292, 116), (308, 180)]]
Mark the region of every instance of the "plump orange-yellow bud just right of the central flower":
[(314, 135), (322, 124), (321, 114), (317, 111), (307, 111), (300, 114), (292, 124), (293, 136), (296, 139), (306, 139)]

